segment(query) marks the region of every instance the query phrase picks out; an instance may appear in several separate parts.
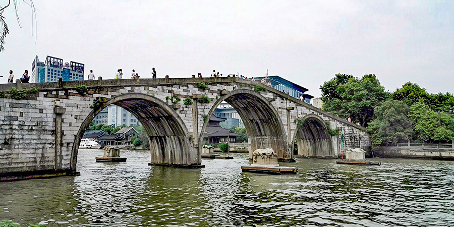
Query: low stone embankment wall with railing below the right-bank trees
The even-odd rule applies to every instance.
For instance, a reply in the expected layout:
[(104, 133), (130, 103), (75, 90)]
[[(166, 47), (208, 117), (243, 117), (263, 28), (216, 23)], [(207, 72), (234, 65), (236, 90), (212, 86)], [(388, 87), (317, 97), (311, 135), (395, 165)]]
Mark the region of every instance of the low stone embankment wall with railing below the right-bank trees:
[(454, 160), (452, 144), (400, 144), (399, 146), (373, 146), (369, 157), (423, 158)]

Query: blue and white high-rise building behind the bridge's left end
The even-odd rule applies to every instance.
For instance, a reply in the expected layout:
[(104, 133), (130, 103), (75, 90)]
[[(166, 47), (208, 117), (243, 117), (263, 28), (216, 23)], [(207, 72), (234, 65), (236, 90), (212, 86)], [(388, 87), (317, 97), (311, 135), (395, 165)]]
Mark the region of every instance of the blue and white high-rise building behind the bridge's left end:
[(77, 62), (63, 62), (63, 59), (46, 56), (45, 62), (40, 62), (38, 56), (32, 63), (30, 83), (57, 82), (84, 80), (84, 64)]

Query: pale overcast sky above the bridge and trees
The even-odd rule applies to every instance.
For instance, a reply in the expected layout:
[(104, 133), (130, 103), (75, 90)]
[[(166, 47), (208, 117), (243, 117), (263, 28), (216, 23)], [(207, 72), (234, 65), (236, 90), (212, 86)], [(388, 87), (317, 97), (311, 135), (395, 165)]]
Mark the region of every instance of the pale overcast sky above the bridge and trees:
[[(4, 6), (7, 0), (0, 0)], [(454, 92), (454, 1), (63, 1), (4, 12), (0, 83), (19, 79), (35, 55), (85, 64), (113, 79), (190, 77), (214, 70), (278, 75), (320, 96), (336, 73), (375, 74), (386, 90), (411, 81)], [(36, 26), (36, 25), (35, 25)]]

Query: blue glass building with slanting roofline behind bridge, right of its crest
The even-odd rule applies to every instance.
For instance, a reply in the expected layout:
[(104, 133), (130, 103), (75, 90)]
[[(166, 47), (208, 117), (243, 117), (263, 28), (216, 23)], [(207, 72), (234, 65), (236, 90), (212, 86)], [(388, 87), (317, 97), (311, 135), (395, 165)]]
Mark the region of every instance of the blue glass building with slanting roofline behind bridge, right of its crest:
[[(263, 78), (264, 77), (257, 77), (257, 78), (254, 77), (255, 81), (260, 81)], [(310, 94), (306, 94), (306, 92), (309, 91), (309, 89), (304, 88), (298, 84), (295, 84), (295, 83), (288, 81), (279, 76), (268, 76), (266, 78), (266, 83), (268, 83), (268, 82), (271, 82), (271, 85), (274, 87), (274, 89), (284, 92), (284, 93), (289, 93), (289, 95), (294, 98), (299, 99), (300, 95), (303, 95), (304, 101), (307, 104), (311, 104), (311, 98), (314, 97)]]

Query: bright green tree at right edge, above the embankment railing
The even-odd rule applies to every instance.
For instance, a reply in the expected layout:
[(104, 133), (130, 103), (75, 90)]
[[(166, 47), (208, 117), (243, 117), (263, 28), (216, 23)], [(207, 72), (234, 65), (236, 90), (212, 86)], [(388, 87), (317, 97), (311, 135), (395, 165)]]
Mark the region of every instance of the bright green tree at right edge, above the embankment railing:
[(410, 106), (409, 117), (417, 142), (443, 143), (454, 139), (454, 118), (448, 113), (437, 113), (429, 105), (417, 102)]

